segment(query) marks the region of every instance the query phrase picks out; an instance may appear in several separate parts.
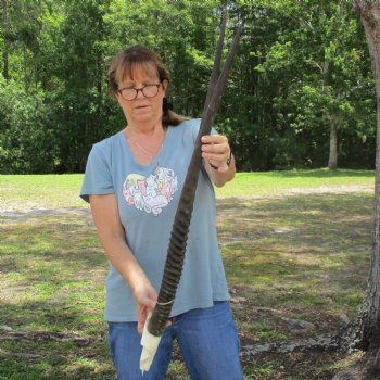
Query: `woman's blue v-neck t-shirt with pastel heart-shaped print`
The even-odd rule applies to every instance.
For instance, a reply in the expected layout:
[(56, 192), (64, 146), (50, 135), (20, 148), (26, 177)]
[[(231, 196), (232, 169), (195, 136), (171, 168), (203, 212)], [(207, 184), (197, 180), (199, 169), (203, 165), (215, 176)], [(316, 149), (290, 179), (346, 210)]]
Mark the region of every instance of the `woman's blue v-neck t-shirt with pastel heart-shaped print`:
[[(122, 131), (96, 143), (89, 154), (80, 195), (114, 193), (126, 242), (159, 292), (182, 185), (194, 149), (200, 119), (167, 129), (163, 148), (149, 165), (140, 165)], [(213, 301), (229, 299), (217, 244), (215, 193), (207, 173), (198, 181), (183, 270), (172, 308), (178, 315)], [(107, 321), (136, 321), (128, 283), (110, 264), (106, 278)]]

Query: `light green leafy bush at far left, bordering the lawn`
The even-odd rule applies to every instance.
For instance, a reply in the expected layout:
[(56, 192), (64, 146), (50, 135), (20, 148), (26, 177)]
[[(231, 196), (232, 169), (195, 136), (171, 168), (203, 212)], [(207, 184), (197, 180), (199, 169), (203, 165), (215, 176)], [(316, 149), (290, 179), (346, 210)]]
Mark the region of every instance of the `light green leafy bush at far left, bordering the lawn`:
[(23, 84), (0, 74), (0, 173), (54, 172), (50, 112), (43, 91), (27, 92)]

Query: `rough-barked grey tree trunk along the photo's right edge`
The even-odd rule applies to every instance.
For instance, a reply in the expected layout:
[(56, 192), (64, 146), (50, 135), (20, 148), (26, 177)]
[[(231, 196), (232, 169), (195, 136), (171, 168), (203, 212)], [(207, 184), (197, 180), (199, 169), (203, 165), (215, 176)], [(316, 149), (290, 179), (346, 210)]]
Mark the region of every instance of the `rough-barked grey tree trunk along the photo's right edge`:
[[(358, 316), (350, 326), (344, 338), (349, 347), (367, 350), (364, 363), (353, 369), (353, 372), (359, 371), (359, 375), (355, 375), (357, 379), (369, 379), (380, 373), (380, 2), (355, 0), (355, 4), (360, 12), (366, 31), (376, 79), (376, 185), (372, 257), (367, 291)], [(345, 377), (338, 375), (334, 379), (350, 379), (349, 375), (345, 373)]]

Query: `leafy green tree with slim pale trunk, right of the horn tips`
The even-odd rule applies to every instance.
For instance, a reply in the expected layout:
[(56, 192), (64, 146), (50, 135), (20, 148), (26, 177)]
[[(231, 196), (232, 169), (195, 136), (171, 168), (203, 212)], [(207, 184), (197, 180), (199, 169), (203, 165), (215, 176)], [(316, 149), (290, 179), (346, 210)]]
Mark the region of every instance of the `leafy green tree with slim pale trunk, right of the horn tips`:
[[(357, 139), (357, 126), (371, 113), (371, 104), (365, 112), (357, 107), (356, 93), (365, 94), (369, 73), (363, 69), (368, 54), (359, 20), (345, 0), (278, 1), (271, 7), (282, 23), (288, 22), (256, 69), (276, 89), (274, 123), (277, 130), (282, 129), (282, 140), (299, 147), (296, 153), (305, 164), (325, 166), (329, 162), (330, 168), (337, 168), (339, 145), (344, 154), (339, 134), (345, 141), (350, 129), (355, 129)], [(289, 156), (287, 147), (281, 148)], [(282, 165), (290, 160), (278, 154)]]

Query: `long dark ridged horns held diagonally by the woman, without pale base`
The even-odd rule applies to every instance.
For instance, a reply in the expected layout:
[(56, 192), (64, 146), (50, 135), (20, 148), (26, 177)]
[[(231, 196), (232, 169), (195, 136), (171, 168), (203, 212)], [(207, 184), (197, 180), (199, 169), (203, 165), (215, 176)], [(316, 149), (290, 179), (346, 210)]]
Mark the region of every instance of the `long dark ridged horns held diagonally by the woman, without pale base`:
[(227, 77), (232, 64), (233, 55), (238, 47), (238, 41), (241, 33), (241, 27), (239, 26), (227, 54), (223, 72), (219, 78), (216, 80), (220, 67), (226, 21), (227, 16), (226, 12), (224, 12), (220, 36), (216, 48), (215, 63), (210, 79), (200, 131), (194, 143), (194, 151), (190, 161), (190, 165), (188, 167), (182, 192), (173, 224), (157, 304), (152, 312), (152, 317), (148, 325), (148, 331), (155, 337), (161, 337), (164, 332), (165, 325), (170, 314), (174, 299), (176, 296), (178, 282), (182, 273), (198, 177), (202, 166), (201, 138), (202, 136), (210, 135), (211, 132), (211, 128), (218, 105), (220, 104), (221, 93), (226, 87)]

